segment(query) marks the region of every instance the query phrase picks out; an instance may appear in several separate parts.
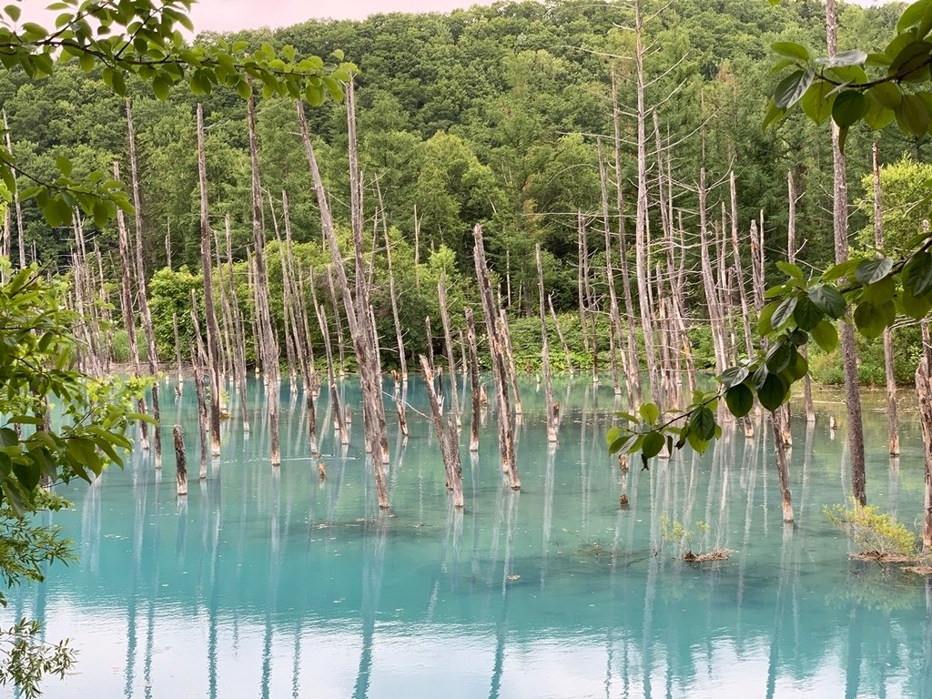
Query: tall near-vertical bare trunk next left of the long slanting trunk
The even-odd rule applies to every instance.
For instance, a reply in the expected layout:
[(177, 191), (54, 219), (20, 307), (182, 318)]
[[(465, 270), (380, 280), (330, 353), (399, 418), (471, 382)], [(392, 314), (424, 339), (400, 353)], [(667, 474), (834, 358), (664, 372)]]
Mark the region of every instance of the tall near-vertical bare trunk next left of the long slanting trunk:
[(259, 347), (262, 355), (262, 370), (266, 378), (268, 397), (268, 428), (271, 440), (272, 466), (281, 465), (281, 448), (279, 444), (279, 347), (272, 330), (267, 304), (261, 303), (268, 298), (266, 281), (265, 240), (262, 232), (262, 185), (259, 183), (259, 145), (255, 134), (255, 102), (250, 98), (246, 103), (247, 121), (249, 122), (249, 151), (253, 174), (253, 244), (254, 277), (261, 308), (256, 308), (258, 316)]

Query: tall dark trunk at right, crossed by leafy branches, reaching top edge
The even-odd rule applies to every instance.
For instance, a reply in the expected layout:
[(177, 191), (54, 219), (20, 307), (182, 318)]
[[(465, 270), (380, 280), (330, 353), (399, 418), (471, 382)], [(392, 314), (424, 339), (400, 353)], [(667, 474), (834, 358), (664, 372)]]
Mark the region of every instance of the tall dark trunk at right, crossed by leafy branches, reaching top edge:
[[(826, 0), (826, 29), (828, 34), (829, 57), (834, 56), (837, 48), (837, 21), (835, 17), (835, 0)], [(832, 122), (831, 145), (834, 161), (834, 224), (835, 224), (835, 262), (842, 263), (848, 259), (848, 180), (846, 158), (842, 150), (841, 131)], [(861, 393), (857, 379), (857, 347), (855, 331), (851, 324), (842, 323), (842, 354), (844, 359), (844, 402), (848, 411), (848, 448), (851, 453), (851, 487), (855, 500), (866, 505), (867, 473), (864, 464), (864, 426), (861, 421)]]

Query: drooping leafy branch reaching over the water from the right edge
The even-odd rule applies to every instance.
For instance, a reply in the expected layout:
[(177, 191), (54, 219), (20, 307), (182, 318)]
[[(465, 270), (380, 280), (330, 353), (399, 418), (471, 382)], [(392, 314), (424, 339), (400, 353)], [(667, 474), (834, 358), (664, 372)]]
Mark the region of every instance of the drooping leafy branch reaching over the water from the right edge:
[(637, 415), (618, 413), (620, 424), (606, 435), (610, 452), (640, 452), (645, 468), (665, 447), (672, 452), (689, 444), (703, 453), (721, 434), (720, 401), (735, 418), (746, 417), (755, 404), (772, 412), (786, 404), (793, 385), (809, 373), (801, 349), (810, 342), (827, 352), (835, 349), (839, 321), (853, 322), (870, 339), (898, 316), (925, 318), (932, 310), (932, 238), (921, 234), (907, 247), (915, 252), (897, 260), (853, 257), (808, 279), (800, 267), (778, 262), (786, 281), (764, 294), (757, 354), (722, 372), (718, 390), (695, 391), (692, 403), (673, 417), (662, 417), (652, 403), (642, 404)]

